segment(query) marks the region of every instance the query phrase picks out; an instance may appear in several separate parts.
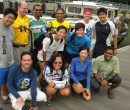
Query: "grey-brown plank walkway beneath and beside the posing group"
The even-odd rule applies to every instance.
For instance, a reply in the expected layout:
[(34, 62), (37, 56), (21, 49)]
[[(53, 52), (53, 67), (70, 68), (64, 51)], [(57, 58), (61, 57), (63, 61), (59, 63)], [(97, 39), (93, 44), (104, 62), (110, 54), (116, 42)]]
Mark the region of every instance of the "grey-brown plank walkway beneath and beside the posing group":
[[(106, 90), (93, 93), (92, 100), (86, 102), (81, 96), (61, 97), (51, 107), (38, 103), (40, 110), (129, 110), (130, 109), (130, 46), (119, 50), (120, 76), (122, 84), (114, 90), (115, 99), (108, 99)], [(3, 110), (13, 110), (11, 104), (3, 105)], [(28, 110), (26, 107), (23, 110)]]

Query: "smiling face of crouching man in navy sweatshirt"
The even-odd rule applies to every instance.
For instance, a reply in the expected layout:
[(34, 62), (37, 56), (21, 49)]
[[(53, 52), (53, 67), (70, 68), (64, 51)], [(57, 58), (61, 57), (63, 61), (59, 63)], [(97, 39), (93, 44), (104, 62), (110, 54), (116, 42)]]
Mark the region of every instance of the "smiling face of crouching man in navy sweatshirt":
[(32, 66), (32, 58), (30, 55), (24, 55), (21, 59), (21, 65), (24, 70), (30, 69)]

